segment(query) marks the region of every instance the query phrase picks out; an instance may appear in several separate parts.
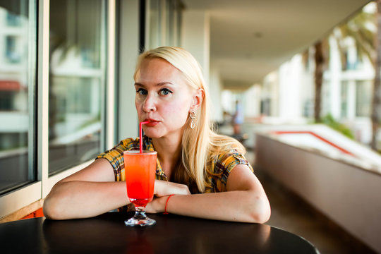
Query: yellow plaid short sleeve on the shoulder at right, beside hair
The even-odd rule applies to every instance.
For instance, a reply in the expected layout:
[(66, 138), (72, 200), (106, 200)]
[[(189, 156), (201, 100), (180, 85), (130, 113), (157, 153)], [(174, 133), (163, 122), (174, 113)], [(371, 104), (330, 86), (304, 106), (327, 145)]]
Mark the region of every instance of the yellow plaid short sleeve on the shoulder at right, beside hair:
[(230, 152), (228, 154), (219, 155), (214, 161), (214, 172), (210, 177), (214, 192), (226, 191), (226, 183), (229, 174), (238, 164), (245, 164), (252, 172), (254, 172), (253, 167), (251, 167), (248, 160), (240, 152)]

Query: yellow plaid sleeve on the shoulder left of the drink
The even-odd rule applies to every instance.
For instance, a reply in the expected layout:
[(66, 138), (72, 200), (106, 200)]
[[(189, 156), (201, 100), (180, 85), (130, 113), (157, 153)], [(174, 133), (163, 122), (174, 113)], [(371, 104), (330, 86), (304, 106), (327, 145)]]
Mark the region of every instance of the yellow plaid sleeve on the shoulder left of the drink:
[(138, 144), (138, 138), (127, 138), (125, 140), (121, 140), (118, 145), (110, 150), (107, 150), (106, 152), (102, 152), (96, 159), (107, 159), (114, 169), (115, 181), (124, 181), (124, 174), (121, 174), (121, 172), (124, 171), (123, 152), (126, 150), (131, 150), (133, 147), (137, 147)]

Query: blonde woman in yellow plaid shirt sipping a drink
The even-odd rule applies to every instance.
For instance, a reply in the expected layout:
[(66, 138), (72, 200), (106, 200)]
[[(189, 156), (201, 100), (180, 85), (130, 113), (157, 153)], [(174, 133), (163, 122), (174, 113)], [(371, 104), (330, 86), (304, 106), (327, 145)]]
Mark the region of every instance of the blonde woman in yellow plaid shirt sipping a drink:
[[(135, 69), (135, 107), (145, 125), (144, 149), (157, 151), (155, 198), (147, 212), (264, 223), (270, 204), (244, 148), (211, 130), (208, 91), (197, 61), (178, 47), (140, 55)], [(44, 201), (50, 219), (93, 217), (128, 205), (122, 140), (88, 167), (59, 181)], [(122, 180), (122, 181), (121, 181)], [(169, 200), (169, 198), (171, 198)]]

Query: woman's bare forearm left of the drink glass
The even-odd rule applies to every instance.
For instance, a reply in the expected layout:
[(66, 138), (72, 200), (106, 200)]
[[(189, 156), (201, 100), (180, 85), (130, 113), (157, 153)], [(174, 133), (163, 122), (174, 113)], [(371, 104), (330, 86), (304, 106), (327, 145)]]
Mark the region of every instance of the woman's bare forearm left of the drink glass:
[(94, 217), (128, 203), (125, 182), (66, 181), (57, 183), (44, 200), (49, 219)]

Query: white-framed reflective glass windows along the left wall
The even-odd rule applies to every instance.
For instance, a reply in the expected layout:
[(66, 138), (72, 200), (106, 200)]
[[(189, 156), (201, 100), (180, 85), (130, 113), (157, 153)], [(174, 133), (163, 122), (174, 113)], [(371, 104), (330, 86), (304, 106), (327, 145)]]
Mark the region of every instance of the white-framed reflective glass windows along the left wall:
[(0, 218), (115, 143), (116, 2), (0, 1)]

